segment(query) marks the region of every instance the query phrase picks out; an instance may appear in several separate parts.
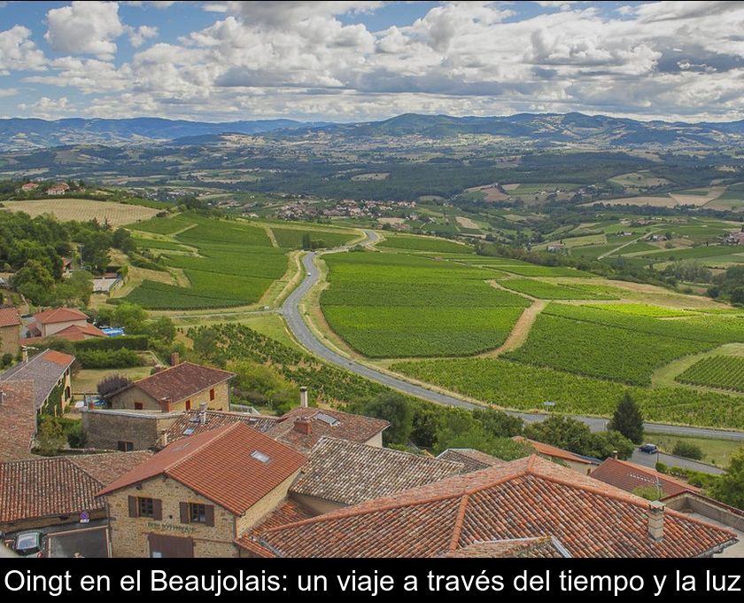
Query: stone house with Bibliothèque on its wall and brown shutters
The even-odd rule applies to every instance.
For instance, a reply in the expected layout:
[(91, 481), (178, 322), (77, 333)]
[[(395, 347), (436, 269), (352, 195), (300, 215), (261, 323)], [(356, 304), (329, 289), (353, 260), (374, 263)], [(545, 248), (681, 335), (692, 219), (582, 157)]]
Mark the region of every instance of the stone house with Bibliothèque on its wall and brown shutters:
[(306, 457), (243, 423), (174, 442), (105, 496), (114, 557), (236, 557), (283, 504)]

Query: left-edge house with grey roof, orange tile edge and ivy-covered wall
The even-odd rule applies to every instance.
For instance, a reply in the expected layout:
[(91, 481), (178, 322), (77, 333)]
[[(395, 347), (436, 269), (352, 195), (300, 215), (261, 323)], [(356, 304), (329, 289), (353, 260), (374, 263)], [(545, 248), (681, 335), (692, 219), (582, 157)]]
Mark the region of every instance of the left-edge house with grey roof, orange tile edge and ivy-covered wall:
[(45, 349), (28, 356), (19, 364), (0, 373), (0, 386), (6, 382), (30, 381), (34, 384), (34, 402), (38, 413), (61, 416), (73, 400), (72, 365), (75, 356)]

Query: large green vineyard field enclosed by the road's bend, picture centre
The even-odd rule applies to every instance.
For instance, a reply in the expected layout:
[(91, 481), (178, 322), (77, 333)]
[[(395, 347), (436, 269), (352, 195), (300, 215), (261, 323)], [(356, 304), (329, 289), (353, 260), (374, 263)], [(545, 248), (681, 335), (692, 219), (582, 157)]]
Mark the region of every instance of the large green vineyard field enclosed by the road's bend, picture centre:
[(529, 302), (489, 270), (405, 254), (324, 257), (330, 327), (369, 357), (465, 356), (498, 347)]

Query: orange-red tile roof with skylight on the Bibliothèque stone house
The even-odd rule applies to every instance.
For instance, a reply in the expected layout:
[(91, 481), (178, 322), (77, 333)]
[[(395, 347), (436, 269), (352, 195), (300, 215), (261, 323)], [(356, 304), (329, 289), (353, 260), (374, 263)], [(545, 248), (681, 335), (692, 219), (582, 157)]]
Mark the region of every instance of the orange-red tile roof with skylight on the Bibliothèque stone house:
[[(268, 457), (266, 463), (252, 456), (257, 451)], [(234, 423), (168, 445), (98, 495), (167, 475), (241, 515), (296, 474), (306, 460), (255, 429)]]

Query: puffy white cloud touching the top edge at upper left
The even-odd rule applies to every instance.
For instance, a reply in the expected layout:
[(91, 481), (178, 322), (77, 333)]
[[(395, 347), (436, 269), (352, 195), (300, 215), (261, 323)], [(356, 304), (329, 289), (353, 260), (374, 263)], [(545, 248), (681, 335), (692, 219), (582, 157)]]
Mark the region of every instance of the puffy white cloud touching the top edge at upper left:
[(44, 39), (55, 51), (93, 54), (111, 59), (116, 54), (113, 40), (125, 32), (115, 2), (73, 2), (47, 13), (49, 29)]

